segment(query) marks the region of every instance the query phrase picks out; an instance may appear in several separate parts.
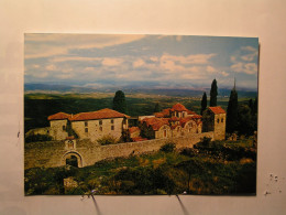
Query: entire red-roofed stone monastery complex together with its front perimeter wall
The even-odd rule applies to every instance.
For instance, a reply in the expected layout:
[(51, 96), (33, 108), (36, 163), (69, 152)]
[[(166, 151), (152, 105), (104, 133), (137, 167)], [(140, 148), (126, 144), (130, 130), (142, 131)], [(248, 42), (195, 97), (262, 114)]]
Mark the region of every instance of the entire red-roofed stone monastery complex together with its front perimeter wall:
[[(226, 139), (226, 111), (209, 107), (202, 116), (176, 104), (152, 116), (129, 116), (111, 109), (50, 116), (50, 127), (32, 129), (26, 137), (46, 135), (51, 141), (25, 143), (25, 169), (74, 163), (82, 168), (105, 159), (153, 152), (173, 142), (177, 149), (193, 148), (202, 138)], [(133, 120), (133, 121), (132, 121)], [(132, 122), (132, 126), (130, 126)], [(120, 142), (101, 146), (100, 139)]]

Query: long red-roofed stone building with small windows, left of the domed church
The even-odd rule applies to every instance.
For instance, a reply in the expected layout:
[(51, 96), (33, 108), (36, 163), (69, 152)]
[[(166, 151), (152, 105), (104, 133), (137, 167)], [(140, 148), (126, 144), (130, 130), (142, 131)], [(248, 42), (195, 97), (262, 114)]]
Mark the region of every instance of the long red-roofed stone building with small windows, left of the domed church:
[(32, 129), (26, 132), (26, 137), (48, 135), (53, 140), (66, 140), (76, 135), (79, 139), (96, 141), (105, 136), (110, 136), (119, 140), (122, 132), (129, 127), (128, 118), (129, 116), (108, 108), (77, 115), (57, 112), (48, 116), (50, 127)]

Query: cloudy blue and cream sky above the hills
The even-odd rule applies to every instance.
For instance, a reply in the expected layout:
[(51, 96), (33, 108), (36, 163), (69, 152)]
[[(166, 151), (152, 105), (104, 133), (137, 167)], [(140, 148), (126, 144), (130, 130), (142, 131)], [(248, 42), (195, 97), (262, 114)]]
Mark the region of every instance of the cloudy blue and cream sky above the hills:
[(257, 37), (25, 34), (24, 82), (91, 88), (257, 89)]

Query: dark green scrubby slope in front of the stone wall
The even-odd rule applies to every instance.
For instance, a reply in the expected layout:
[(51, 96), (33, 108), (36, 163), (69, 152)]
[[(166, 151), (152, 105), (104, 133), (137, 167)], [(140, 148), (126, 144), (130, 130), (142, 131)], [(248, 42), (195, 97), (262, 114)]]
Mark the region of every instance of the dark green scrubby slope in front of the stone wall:
[[(107, 159), (86, 168), (25, 170), (25, 194), (254, 194), (256, 149), (202, 140), (195, 149)], [(245, 147), (246, 146), (246, 147)], [(76, 187), (65, 187), (73, 178)]]

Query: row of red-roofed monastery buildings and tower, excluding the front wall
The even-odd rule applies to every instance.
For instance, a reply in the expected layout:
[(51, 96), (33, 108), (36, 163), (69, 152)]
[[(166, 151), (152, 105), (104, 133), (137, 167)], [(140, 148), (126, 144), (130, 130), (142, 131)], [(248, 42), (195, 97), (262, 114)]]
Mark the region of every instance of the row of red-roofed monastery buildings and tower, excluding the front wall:
[(91, 141), (109, 136), (120, 141), (125, 133), (135, 142), (213, 131), (216, 140), (226, 138), (226, 111), (221, 107), (209, 107), (200, 116), (176, 104), (162, 112), (138, 117), (136, 127), (129, 127), (129, 118), (109, 108), (77, 115), (57, 112), (47, 118), (50, 127), (32, 129), (26, 136), (48, 135), (53, 140), (73, 139), (76, 136)]

